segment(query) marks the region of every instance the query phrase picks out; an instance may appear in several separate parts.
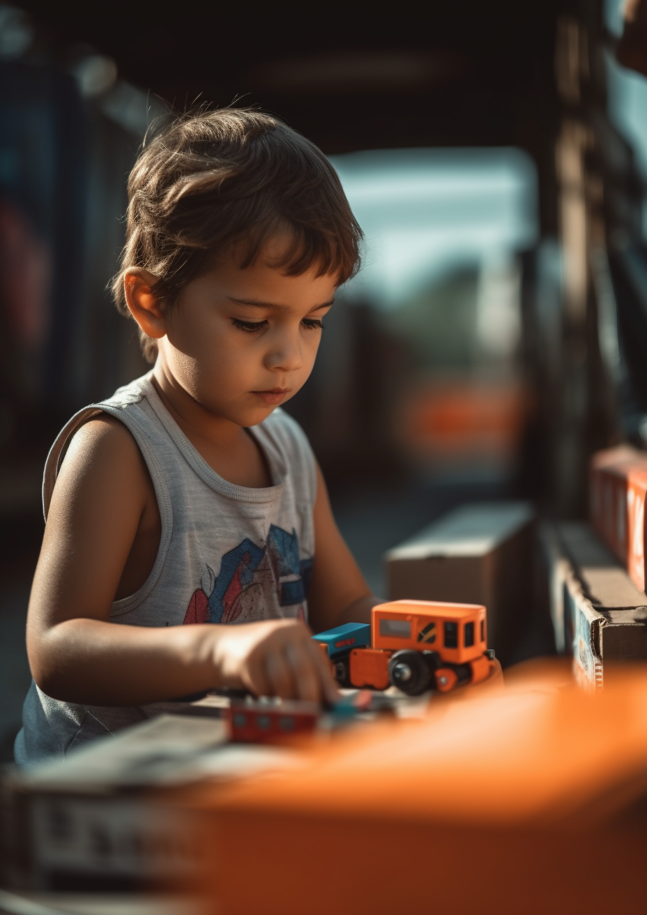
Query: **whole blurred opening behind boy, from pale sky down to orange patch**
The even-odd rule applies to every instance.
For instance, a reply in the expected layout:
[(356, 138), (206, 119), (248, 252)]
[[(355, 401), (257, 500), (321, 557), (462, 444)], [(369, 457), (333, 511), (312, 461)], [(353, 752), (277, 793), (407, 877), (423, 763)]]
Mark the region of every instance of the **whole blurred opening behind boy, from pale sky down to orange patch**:
[(340, 298), (358, 316), (371, 309), (401, 366), (383, 396), (383, 437), (425, 476), (504, 482), (529, 404), (520, 255), (539, 234), (532, 159), (462, 148), (331, 161), (365, 234), (363, 267)]

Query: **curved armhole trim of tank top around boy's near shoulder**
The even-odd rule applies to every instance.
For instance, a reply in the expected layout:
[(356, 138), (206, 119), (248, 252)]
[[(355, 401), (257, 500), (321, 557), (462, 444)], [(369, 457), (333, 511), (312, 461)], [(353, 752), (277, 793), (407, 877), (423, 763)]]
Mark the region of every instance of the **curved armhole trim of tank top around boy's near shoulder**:
[(173, 509), (162, 468), (159, 466), (155, 451), (153, 448), (148, 447), (146, 437), (139, 430), (138, 424), (132, 415), (126, 414), (123, 409), (118, 407), (108, 406), (107, 404), (92, 404), (72, 416), (70, 422), (63, 426), (59, 435), (56, 437), (54, 444), (49, 449), (49, 455), (45, 463), (45, 473), (43, 476), (43, 514), (45, 516), (45, 521), (47, 522), (49, 503), (54, 491), (56, 479), (59, 475), (59, 468), (63, 462), (63, 458), (65, 458), (68, 447), (70, 446), (72, 436), (79, 431), (81, 425), (85, 425), (90, 422), (91, 419), (95, 419), (102, 413), (107, 413), (115, 419), (118, 419), (125, 425), (135, 439), (135, 444), (145, 460), (146, 468), (148, 468), (148, 473), (153, 482), (157, 508), (159, 509), (159, 517), (162, 525), (159, 546), (150, 574), (147, 576), (144, 584), (139, 587), (134, 594), (113, 601), (110, 615), (111, 617), (115, 617), (121, 616), (123, 613), (128, 613), (130, 610), (134, 610), (135, 607), (138, 607), (139, 604), (148, 597), (153, 590), (153, 587), (155, 587), (167, 557), (173, 529)]

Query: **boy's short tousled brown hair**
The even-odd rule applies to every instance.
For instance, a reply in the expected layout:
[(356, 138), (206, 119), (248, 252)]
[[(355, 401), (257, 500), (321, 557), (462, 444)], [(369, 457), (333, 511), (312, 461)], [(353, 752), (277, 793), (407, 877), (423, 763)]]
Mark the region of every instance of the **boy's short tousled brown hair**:
[[(286, 274), (336, 274), (344, 283), (360, 267), (360, 226), (326, 156), (269, 114), (222, 108), (185, 114), (158, 132), (128, 179), (126, 242), (113, 296), (128, 315), (124, 270), (158, 277), (156, 293), (170, 305), (208, 270), (218, 253), (235, 249), (253, 264), (277, 232), (290, 243)], [(140, 330), (148, 361), (156, 341)]]

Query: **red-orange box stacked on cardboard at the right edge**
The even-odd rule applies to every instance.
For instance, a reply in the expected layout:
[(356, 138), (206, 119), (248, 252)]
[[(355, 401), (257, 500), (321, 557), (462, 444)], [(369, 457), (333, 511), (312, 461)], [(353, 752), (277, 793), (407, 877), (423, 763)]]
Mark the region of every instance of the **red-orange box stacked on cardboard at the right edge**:
[(593, 456), (589, 479), (591, 524), (642, 591), (646, 498), (647, 454), (623, 445)]

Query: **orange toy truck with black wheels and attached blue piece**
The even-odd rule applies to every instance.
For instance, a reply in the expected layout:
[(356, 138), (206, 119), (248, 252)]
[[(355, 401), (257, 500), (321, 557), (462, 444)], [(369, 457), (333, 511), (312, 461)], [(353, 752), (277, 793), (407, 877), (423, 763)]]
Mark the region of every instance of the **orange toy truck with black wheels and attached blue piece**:
[[(372, 608), (370, 644), (368, 634), (368, 626), (350, 623), (313, 636), (325, 645), (340, 684), (373, 689), (397, 686), (408, 695), (428, 689), (448, 693), (459, 684), (487, 679), (493, 668), (485, 608), (479, 604), (429, 600), (380, 604)], [(347, 647), (349, 643), (353, 647)]]

